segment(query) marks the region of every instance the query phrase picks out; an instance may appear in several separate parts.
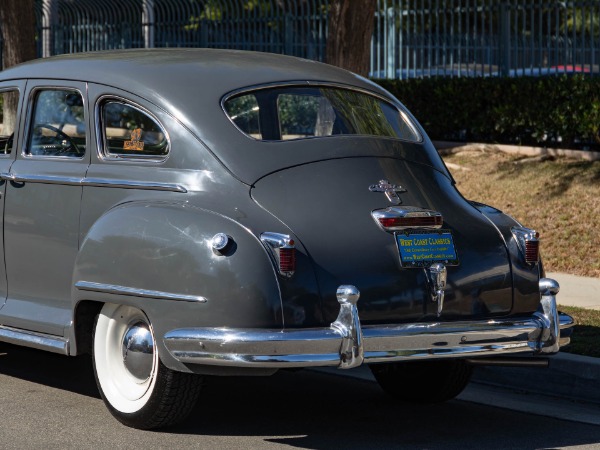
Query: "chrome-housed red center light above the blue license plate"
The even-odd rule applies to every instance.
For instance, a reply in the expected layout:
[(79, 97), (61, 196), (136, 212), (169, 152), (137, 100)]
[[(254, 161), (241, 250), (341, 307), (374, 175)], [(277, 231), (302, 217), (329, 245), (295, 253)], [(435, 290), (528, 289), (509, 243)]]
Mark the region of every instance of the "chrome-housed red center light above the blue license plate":
[(371, 213), (373, 219), (385, 231), (400, 231), (409, 228), (441, 228), (444, 218), (437, 211), (415, 206), (392, 206)]

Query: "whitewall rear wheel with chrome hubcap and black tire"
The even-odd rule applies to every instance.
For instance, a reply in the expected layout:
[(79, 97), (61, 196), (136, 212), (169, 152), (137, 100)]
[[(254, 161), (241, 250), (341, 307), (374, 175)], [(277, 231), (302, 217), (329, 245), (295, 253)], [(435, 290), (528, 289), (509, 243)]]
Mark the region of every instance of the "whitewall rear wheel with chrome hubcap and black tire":
[(105, 304), (94, 327), (94, 372), (100, 395), (115, 418), (139, 429), (185, 419), (202, 378), (165, 367), (154, 331), (137, 308)]

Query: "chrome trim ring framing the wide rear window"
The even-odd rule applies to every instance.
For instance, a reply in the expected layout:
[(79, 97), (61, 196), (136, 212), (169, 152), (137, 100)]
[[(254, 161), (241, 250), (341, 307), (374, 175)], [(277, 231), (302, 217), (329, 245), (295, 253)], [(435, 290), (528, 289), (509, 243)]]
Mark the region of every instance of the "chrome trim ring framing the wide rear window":
[[(231, 117), (229, 116), (229, 114), (227, 113), (227, 110), (225, 109), (225, 103), (227, 103), (227, 101), (229, 99), (231, 99), (232, 97), (238, 96), (238, 95), (244, 95), (244, 94), (250, 94), (252, 92), (256, 92), (256, 91), (263, 91), (266, 89), (277, 89), (277, 88), (289, 88), (289, 87), (298, 87), (298, 88), (307, 88), (307, 87), (314, 87), (314, 88), (318, 88), (318, 87), (330, 87), (330, 88), (338, 88), (338, 89), (344, 89), (347, 91), (355, 91), (355, 92), (360, 92), (361, 94), (365, 94), (365, 95), (369, 95), (371, 97), (375, 97), (387, 104), (389, 104), (390, 106), (393, 106), (394, 108), (396, 108), (396, 110), (398, 110), (398, 112), (400, 113), (400, 115), (402, 116), (402, 119), (406, 122), (406, 124), (409, 126), (409, 128), (412, 130), (412, 132), (415, 134), (415, 136), (418, 137), (417, 140), (408, 140), (408, 139), (401, 139), (399, 137), (394, 137), (394, 136), (377, 136), (377, 135), (371, 135), (371, 134), (341, 134), (341, 135), (330, 135), (330, 136), (309, 136), (309, 137), (304, 137), (304, 138), (297, 138), (297, 139), (286, 139), (286, 140), (265, 140), (265, 139), (256, 139), (253, 138), (252, 136), (250, 136), (249, 134), (247, 134), (246, 132), (244, 132), (240, 127), (238, 127), (235, 122), (231, 119)], [(393, 139), (396, 141), (401, 141), (401, 142), (410, 142), (413, 144), (421, 144), (424, 141), (423, 138), (423, 134), (419, 131), (419, 128), (416, 126), (415, 123), (413, 123), (413, 119), (410, 118), (410, 116), (407, 114), (407, 112), (404, 109), (404, 106), (399, 103), (396, 99), (390, 99), (388, 97), (385, 97), (384, 95), (379, 94), (378, 92), (374, 92), (374, 91), (370, 91), (368, 89), (365, 88), (361, 88), (358, 86), (353, 86), (350, 84), (344, 84), (344, 83), (334, 83), (334, 82), (329, 82), (329, 81), (286, 81), (286, 82), (278, 82), (278, 83), (266, 83), (266, 84), (258, 84), (258, 85), (254, 85), (254, 86), (247, 86), (247, 87), (243, 87), (240, 89), (236, 89), (234, 91), (228, 92), (227, 94), (225, 94), (222, 98), (221, 98), (221, 110), (223, 111), (223, 113), (225, 114), (225, 116), (227, 117), (227, 119), (233, 124), (233, 126), (240, 132), (242, 133), (244, 136), (246, 136), (247, 138), (251, 139), (252, 141), (255, 142), (265, 142), (265, 143), (280, 143), (280, 142), (295, 142), (295, 141), (300, 141), (300, 140), (305, 140), (305, 139), (323, 139), (323, 138), (331, 138), (331, 137), (348, 137), (348, 136), (352, 136), (352, 137), (377, 137), (377, 138), (381, 138), (381, 139)]]

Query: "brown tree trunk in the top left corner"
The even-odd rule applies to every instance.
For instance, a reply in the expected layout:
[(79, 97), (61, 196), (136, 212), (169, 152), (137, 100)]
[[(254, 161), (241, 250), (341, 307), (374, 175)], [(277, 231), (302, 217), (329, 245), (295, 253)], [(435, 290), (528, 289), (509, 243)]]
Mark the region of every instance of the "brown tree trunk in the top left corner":
[(0, 0), (4, 69), (35, 58), (33, 11), (33, 0)]

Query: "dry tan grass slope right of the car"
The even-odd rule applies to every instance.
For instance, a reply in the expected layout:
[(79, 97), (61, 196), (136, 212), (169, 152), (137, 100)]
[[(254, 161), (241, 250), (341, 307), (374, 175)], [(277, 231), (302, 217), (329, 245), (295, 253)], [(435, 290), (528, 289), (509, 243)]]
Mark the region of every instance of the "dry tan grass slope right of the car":
[(528, 161), (484, 151), (444, 161), (466, 198), (540, 233), (546, 271), (600, 277), (600, 161)]

